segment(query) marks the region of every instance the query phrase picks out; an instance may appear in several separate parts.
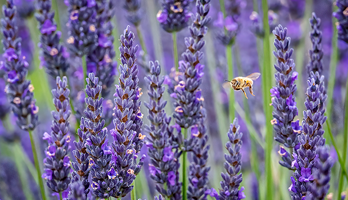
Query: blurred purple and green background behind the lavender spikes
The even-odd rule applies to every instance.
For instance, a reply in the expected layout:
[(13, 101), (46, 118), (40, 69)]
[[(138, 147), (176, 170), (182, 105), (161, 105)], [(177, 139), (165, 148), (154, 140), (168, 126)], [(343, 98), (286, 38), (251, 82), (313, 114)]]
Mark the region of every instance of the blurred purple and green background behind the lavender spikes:
[[(115, 1), (115, 17), (112, 19), (114, 24), (113, 35), (115, 37), (114, 46), (116, 51), (115, 61), (120, 63), (118, 46), (119, 36), (128, 24), (126, 19), (126, 11), (123, 9), (125, 0)], [(1, 5), (5, 4), (1, 0)], [(146, 85), (144, 77), (147, 74), (147, 62), (149, 60), (158, 60), (162, 67), (163, 74), (169, 74), (172, 67), (174, 67), (173, 60), (173, 46), (171, 34), (165, 32), (157, 21), (156, 15), (161, 9), (158, 0), (143, 0), (141, 1), (142, 20), (139, 29), (141, 30), (145, 46), (147, 48), (147, 55), (142, 51), (138, 51), (137, 63), (140, 65), (139, 80), (140, 87), (145, 90)], [(260, 72), (259, 63), (263, 59), (263, 43), (262, 38), (255, 34), (254, 17), (257, 12), (262, 16), (261, 1), (259, 0), (244, 0), (240, 1), (241, 6), (241, 30), (235, 38), (235, 44), (232, 48), (234, 74), (236, 76), (247, 76), (253, 72)], [(53, 109), (52, 97), (50, 90), (55, 86), (55, 79), (45, 73), (45, 69), (40, 65), (39, 59), (39, 30), (37, 29), (37, 21), (33, 16), (35, 12), (35, 1), (32, 0), (15, 0), (20, 20), (18, 20), (19, 36), (22, 38), (22, 54), (26, 57), (29, 63), (28, 79), (32, 81), (35, 88), (35, 98), (37, 106), (39, 107), (39, 126), (34, 130), (35, 143), (39, 147), (38, 154), (40, 159), (44, 158), (44, 149), (47, 146), (46, 141), (42, 139), (44, 132), (50, 131), (52, 116), (50, 111)], [(190, 9), (195, 12), (194, 3), (191, 4)], [(307, 88), (307, 72), (306, 65), (309, 62), (308, 50), (311, 49), (312, 44), (309, 38), (309, 31), (311, 30), (309, 18), (312, 12), (316, 12), (317, 16), (321, 18), (322, 31), (322, 49), (323, 49), (323, 75), (325, 76), (325, 84), (327, 85), (330, 79), (334, 79), (333, 101), (331, 104), (331, 112), (329, 117), (332, 122), (332, 132), (336, 138), (338, 147), (343, 145), (343, 122), (344, 122), (344, 91), (347, 81), (348, 72), (348, 45), (345, 42), (337, 41), (334, 37), (335, 20), (332, 17), (332, 12), (335, 10), (334, 3), (329, 0), (270, 0), (269, 15), (271, 16), (271, 27), (281, 24), (288, 28), (288, 36), (291, 37), (291, 47), (294, 48), (293, 59), (296, 63), (296, 69), (299, 72), (299, 80), (297, 81), (298, 91), (296, 94), (297, 106), (300, 120), (302, 118), (302, 111), (304, 109), (303, 102), (305, 101), (305, 90)], [(66, 23), (69, 14), (67, 6), (63, 0), (53, 0), (53, 9), (56, 11), (55, 19), (58, 27), (61, 28), (62, 39), (66, 42), (68, 38), (68, 30)], [(217, 20), (220, 12), (219, 0), (211, 0), (211, 9), (209, 16), (212, 17), (212, 23), (209, 24), (209, 30), (205, 37), (206, 46), (204, 47), (205, 57), (203, 63), (205, 64), (205, 76), (203, 77), (202, 93), (205, 98), (204, 107), (207, 109), (207, 128), (209, 135), (209, 143), (211, 144), (208, 163), (211, 166), (209, 172), (209, 180), (211, 187), (219, 188), (221, 176), (220, 173), (224, 171), (224, 148), (227, 141), (226, 133), (229, 128), (229, 113), (228, 101), (229, 92), (222, 87), (227, 77), (227, 62), (225, 54), (225, 46), (216, 39), (217, 29), (213, 26), (213, 21)], [(253, 15), (252, 15), (253, 13)], [(252, 16), (251, 16), (252, 15)], [(136, 34), (136, 43), (139, 43), (137, 30), (131, 26), (130, 30)], [(183, 29), (178, 33), (178, 53), (179, 60), (181, 53), (185, 50), (184, 38), (189, 36), (188, 29)], [(2, 36), (0, 36), (2, 37)], [(271, 42), (273, 35), (270, 36)], [(337, 67), (335, 74), (330, 72), (330, 63), (333, 58), (333, 42), (338, 47)], [(273, 42), (271, 44), (271, 51), (274, 50)], [(2, 48), (0, 53), (3, 53)], [(335, 56), (335, 55), (334, 55)], [(273, 58), (273, 57), (272, 57)], [(3, 59), (3, 58), (1, 58)], [(84, 107), (84, 92), (85, 81), (81, 76), (82, 66), (80, 58), (70, 56), (69, 62), (71, 68), (68, 72), (68, 79), (73, 86), (71, 98), (74, 101), (74, 107), (78, 111), (82, 111)], [(275, 58), (271, 60), (275, 63)], [(117, 68), (115, 67), (115, 70)], [(0, 76), (3, 77), (3, 71), (0, 71)], [(115, 71), (115, 73), (117, 73)], [(117, 73), (118, 74), (118, 73)], [(305, 74), (301, 76), (301, 74)], [(334, 76), (335, 75), (335, 76)], [(273, 75), (272, 75), (273, 77)], [(333, 78), (335, 77), (335, 78)], [(117, 81), (118, 79), (116, 79)], [(274, 85), (274, 80), (273, 84)], [(117, 82), (116, 82), (117, 83)], [(115, 84), (116, 84), (115, 83)], [(236, 116), (240, 119), (241, 132), (243, 132), (243, 146), (242, 146), (242, 172), (243, 179), (242, 186), (245, 186), (246, 199), (264, 199), (265, 198), (265, 174), (264, 174), (264, 148), (265, 144), (265, 121), (262, 103), (262, 89), (261, 80), (254, 82), (254, 94), (249, 95), (246, 99), (244, 94), (240, 91), (235, 92), (236, 99)], [(30, 138), (27, 132), (21, 131), (15, 124), (13, 114), (9, 111), (6, 105), (7, 98), (4, 92), (5, 81), (0, 79), (0, 105), (5, 109), (1, 110), (0, 117), (0, 199), (26, 199), (24, 192), (30, 190), (33, 199), (40, 199), (40, 192), (32, 177), (35, 173), (33, 168), (33, 155), (31, 152)], [(114, 89), (112, 89), (112, 93)], [(166, 94), (166, 99), (169, 95)], [(112, 110), (113, 96), (110, 101), (105, 101), (104, 110)], [(148, 97), (144, 92), (141, 101), (147, 101)], [(170, 100), (169, 100), (170, 102)], [(111, 103), (111, 105), (110, 105)], [(248, 106), (246, 106), (248, 105)], [(141, 108), (143, 113), (147, 114), (145, 108)], [(167, 104), (168, 113), (171, 113), (172, 107)], [(146, 111), (146, 112), (145, 112)], [(112, 119), (110, 112), (105, 112), (105, 119)], [(109, 113), (109, 115), (107, 115)], [(145, 116), (146, 116), (145, 114)], [(79, 117), (79, 116), (77, 116)], [(295, 118), (296, 119), (296, 118)], [(74, 130), (74, 123), (76, 119), (71, 117), (71, 135), (76, 135)], [(144, 124), (148, 124), (148, 120), (144, 117)], [(108, 123), (110, 123), (109, 121)], [(247, 123), (248, 122), (248, 123)], [(5, 131), (5, 126), (7, 130)], [(110, 125), (113, 127), (113, 124)], [(258, 137), (255, 137), (258, 136)], [(327, 143), (331, 144), (328, 136)], [(256, 139), (258, 138), (258, 139)], [(112, 142), (112, 137), (109, 138)], [(71, 146), (74, 148), (74, 145)], [(274, 181), (274, 199), (290, 199), (290, 192), (288, 187), (291, 184), (290, 176), (292, 174), (288, 169), (281, 167), (278, 164), (280, 156), (277, 151), (279, 149), (278, 143), (274, 142), (274, 151), (272, 152), (272, 173)], [(340, 148), (342, 149), (342, 148)], [(17, 152), (24, 152), (24, 154), (17, 154)], [(143, 146), (143, 154), (146, 154), (146, 146)], [(331, 146), (331, 156), (337, 161), (335, 149)], [(74, 157), (71, 155), (71, 158)], [(41, 165), (42, 167), (42, 165)], [(42, 169), (41, 169), (42, 171)], [(23, 183), (19, 180), (19, 174), (27, 178), (27, 182)], [(153, 199), (157, 194), (153, 181), (148, 176), (148, 160), (145, 160), (144, 167), (139, 174), (140, 178), (136, 179), (137, 197)], [(339, 180), (339, 164), (335, 162), (332, 169), (331, 188), (329, 192), (337, 192), (335, 188), (338, 187)], [(344, 190), (346, 185), (344, 186)], [(48, 193), (48, 190), (47, 190)], [(337, 193), (334, 195), (337, 195)], [(59, 196), (58, 196), (59, 197)], [(129, 196), (128, 196), (129, 197)], [(57, 194), (53, 194), (51, 199), (57, 199)], [(126, 198), (125, 198), (126, 199)], [(130, 199), (130, 197), (129, 197)]]

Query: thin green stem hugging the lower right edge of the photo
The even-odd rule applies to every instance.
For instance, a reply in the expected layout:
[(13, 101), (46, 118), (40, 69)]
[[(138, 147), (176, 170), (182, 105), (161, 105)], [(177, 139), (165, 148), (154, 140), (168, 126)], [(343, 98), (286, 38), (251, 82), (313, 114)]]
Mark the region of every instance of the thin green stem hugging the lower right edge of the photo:
[[(345, 161), (347, 158), (347, 144), (348, 144), (348, 80), (345, 85), (345, 101), (344, 101), (344, 128), (343, 128), (343, 166), (342, 169), (345, 169)], [(338, 184), (338, 194), (343, 190), (344, 179), (343, 173), (340, 173), (340, 179)]]

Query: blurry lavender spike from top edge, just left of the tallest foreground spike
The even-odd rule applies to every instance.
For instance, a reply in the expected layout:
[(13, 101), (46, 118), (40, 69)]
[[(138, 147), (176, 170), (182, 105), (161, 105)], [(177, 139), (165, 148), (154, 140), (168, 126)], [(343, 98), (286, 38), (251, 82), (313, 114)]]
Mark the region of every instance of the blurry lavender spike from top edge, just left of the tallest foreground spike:
[[(89, 1), (88, 1), (89, 2)], [(96, 0), (95, 33), (98, 36), (98, 46), (89, 52), (86, 62), (87, 71), (93, 72), (99, 78), (102, 85), (101, 95), (106, 98), (111, 91), (116, 75), (116, 62), (114, 50), (113, 25), (111, 19), (114, 16), (114, 1)]]

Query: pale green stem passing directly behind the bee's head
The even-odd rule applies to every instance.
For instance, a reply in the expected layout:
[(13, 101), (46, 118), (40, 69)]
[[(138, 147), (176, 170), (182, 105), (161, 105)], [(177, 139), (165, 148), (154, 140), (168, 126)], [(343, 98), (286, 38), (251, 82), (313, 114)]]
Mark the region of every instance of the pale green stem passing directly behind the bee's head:
[[(228, 79), (231, 81), (233, 79), (233, 58), (232, 58), (232, 45), (226, 46), (226, 60), (227, 60), (227, 70), (228, 70)], [(233, 123), (234, 120), (234, 91), (231, 88), (230, 93), (230, 104), (229, 104), (229, 114), (230, 122)]]

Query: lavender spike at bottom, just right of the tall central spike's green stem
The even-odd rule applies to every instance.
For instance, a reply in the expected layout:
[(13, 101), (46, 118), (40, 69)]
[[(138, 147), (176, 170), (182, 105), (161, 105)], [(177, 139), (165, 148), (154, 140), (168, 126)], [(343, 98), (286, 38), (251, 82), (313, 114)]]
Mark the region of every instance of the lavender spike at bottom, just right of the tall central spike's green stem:
[(191, 137), (193, 137), (192, 162), (189, 166), (188, 174), (188, 199), (207, 199), (204, 192), (208, 189), (208, 172), (210, 166), (207, 166), (208, 151), (208, 135), (207, 128), (204, 126), (206, 110), (201, 109), (199, 123), (191, 128)]

